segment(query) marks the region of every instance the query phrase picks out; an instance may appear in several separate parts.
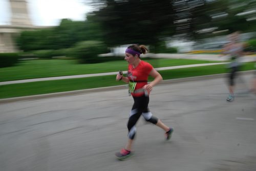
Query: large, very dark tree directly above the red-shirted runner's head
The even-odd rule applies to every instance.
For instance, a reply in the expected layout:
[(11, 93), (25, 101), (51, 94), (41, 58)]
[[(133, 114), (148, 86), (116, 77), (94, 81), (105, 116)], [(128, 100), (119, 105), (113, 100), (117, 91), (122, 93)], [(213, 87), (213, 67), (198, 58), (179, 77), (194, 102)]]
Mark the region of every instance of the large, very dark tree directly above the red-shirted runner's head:
[(173, 31), (170, 27), (173, 10), (169, 0), (99, 2), (101, 7), (94, 14), (101, 23), (104, 41), (109, 46), (155, 45), (159, 38)]

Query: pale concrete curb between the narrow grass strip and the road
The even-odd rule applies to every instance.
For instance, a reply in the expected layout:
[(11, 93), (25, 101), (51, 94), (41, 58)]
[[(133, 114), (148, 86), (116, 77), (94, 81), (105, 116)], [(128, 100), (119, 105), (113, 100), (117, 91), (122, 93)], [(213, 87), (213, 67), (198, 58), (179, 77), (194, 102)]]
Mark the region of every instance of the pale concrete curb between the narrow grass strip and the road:
[[(250, 70), (250, 71), (240, 71), (239, 73), (242, 75), (246, 75), (246, 74), (252, 74), (254, 72), (255, 72), (254, 70)], [(169, 83), (179, 83), (179, 82), (186, 82), (186, 81), (200, 81), (200, 80), (205, 80), (205, 79), (224, 78), (226, 75), (227, 75), (227, 73), (203, 75), (203, 76), (187, 77), (187, 78), (168, 79), (168, 80), (163, 80), (158, 85), (169, 84)], [(62, 96), (74, 96), (74, 95), (80, 95), (80, 94), (122, 90), (122, 89), (127, 89), (127, 86), (126, 85), (111, 86), (111, 87), (103, 87), (103, 88), (95, 88), (95, 89), (84, 89), (84, 90), (49, 93), (49, 94), (41, 94), (41, 95), (33, 95), (33, 96), (5, 98), (5, 99), (0, 99), (0, 104), (15, 102), (15, 101), (35, 100), (35, 99), (44, 99), (44, 98), (62, 97)]]

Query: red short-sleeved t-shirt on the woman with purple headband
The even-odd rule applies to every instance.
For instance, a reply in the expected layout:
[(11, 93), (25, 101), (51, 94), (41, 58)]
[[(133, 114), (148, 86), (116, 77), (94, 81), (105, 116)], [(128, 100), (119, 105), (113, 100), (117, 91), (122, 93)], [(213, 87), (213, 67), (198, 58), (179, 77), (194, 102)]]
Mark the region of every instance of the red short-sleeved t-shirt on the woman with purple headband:
[[(142, 89), (147, 84), (147, 78), (150, 72), (153, 70), (153, 66), (143, 60), (140, 61), (136, 68), (133, 65), (128, 66), (127, 77), (131, 82), (137, 82), (135, 90)], [(142, 96), (144, 93), (131, 93), (134, 97)]]

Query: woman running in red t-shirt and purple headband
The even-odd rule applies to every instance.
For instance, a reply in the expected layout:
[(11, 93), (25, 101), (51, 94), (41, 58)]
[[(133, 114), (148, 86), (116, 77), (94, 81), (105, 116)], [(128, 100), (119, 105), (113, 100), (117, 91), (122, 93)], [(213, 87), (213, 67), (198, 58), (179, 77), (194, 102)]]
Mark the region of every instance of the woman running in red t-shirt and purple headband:
[[(128, 127), (128, 141), (126, 146), (116, 153), (118, 159), (123, 160), (131, 155), (132, 143), (136, 134), (136, 122), (142, 115), (144, 119), (151, 122), (165, 131), (166, 139), (170, 139), (173, 133), (173, 128), (166, 126), (160, 119), (153, 116), (148, 109), (150, 92), (153, 87), (160, 82), (162, 76), (153, 68), (150, 63), (147, 63), (140, 58), (140, 54), (145, 54), (147, 48), (144, 45), (131, 45), (125, 51), (125, 60), (129, 63), (127, 77), (121, 73), (117, 74), (116, 80), (122, 80), (129, 83), (129, 92), (133, 96), (134, 104), (130, 114)], [(152, 76), (154, 80), (147, 84), (148, 76)]]

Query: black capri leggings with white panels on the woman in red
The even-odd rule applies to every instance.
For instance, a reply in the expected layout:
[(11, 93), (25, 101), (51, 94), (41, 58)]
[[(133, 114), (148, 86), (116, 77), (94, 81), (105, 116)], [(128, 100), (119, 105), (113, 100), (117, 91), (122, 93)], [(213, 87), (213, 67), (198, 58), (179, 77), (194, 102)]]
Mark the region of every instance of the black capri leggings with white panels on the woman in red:
[(158, 118), (154, 117), (150, 110), (148, 109), (148, 103), (150, 102), (150, 98), (148, 96), (141, 96), (141, 97), (133, 97), (134, 104), (130, 114), (130, 118), (127, 123), (128, 128), (128, 137), (130, 139), (135, 138), (136, 134), (136, 123), (139, 120), (140, 116), (142, 115), (144, 119), (148, 122), (153, 124), (157, 124)]

